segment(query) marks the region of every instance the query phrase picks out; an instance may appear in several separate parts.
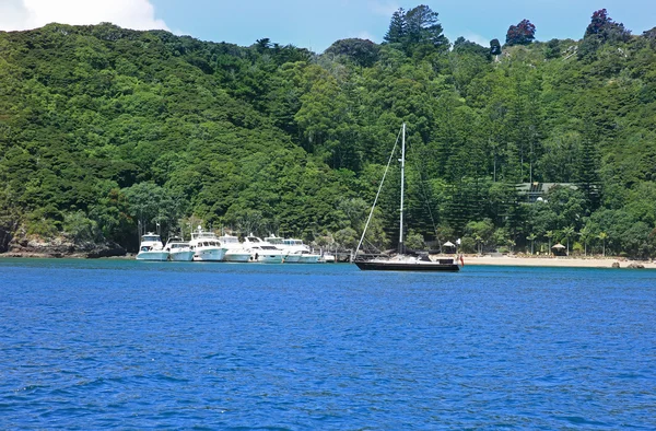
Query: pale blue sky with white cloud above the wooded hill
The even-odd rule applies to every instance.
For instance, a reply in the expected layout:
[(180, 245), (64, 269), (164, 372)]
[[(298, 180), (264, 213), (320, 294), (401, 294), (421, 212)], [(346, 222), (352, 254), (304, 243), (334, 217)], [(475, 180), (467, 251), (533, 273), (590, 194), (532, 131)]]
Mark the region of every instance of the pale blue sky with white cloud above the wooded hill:
[(524, 19), (536, 26), (537, 40), (579, 39), (604, 8), (633, 34), (656, 27), (655, 0), (0, 0), (0, 31), (112, 22), (239, 46), (268, 37), (320, 54), (344, 38), (380, 43), (391, 14), (419, 4), (438, 13), (450, 42), (462, 36), (483, 46), (493, 38), (503, 44)]

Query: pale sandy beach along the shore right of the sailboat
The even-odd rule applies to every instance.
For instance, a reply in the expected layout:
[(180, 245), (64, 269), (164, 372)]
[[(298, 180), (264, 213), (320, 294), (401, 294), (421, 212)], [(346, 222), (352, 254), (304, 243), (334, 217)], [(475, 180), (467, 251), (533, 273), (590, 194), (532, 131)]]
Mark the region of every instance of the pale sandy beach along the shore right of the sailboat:
[(629, 260), (621, 257), (532, 257), (532, 256), (476, 256), (464, 257), (467, 265), (496, 265), (496, 266), (526, 266), (526, 267), (570, 267), (570, 268), (612, 268), (619, 264), (620, 268), (630, 265), (642, 265), (645, 269), (656, 269), (656, 263), (648, 260)]

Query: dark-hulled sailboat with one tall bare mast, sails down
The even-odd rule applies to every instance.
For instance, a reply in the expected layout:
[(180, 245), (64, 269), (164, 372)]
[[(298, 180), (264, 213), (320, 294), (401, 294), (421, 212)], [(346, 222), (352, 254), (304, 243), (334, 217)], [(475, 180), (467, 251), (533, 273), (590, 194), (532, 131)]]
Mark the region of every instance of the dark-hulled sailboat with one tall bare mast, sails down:
[[(397, 138), (398, 142), (398, 138)], [(383, 180), (380, 182), (380, 186), (378, 187), (378, 194), (376, 195), (376, 199), (374, 200), (374, 205), (372, 206), (372, 210), (370, 212), (370, 217), (366, 221), (366, 225), (364, 226), (364, 232), (362, 232), (362, 237), (360, 238), (360, 243), (358, 244), (358, 248), (355, 249), (354, 259), (358, 268), (362, 270), (377, 270), (377, 271), (458, 271), (460, 267), (457, 263), (455, 263), (454, 258), (440, 258), (436, 260), (432, 260), (427, 254), (425, 255), (411, 255), (406, 254), (406, 248), (403, 246), (403, 180), (405, 180), (405, 171), (406, 171), (406, 124), (401, 128), (401, 207), (400, 207), (400, 232), (399, 232), (399, 253), (391, 256), (374, 256), (374, 257), (359, 257), (358, 253), (360, 252), (360, 247), (362, 246), (362, 242), (364, 241), (364, 235), (366, 234), (366, 230), (372, 220), (372, 215), (374, 214), (374, 208), (376, 207), (376, 202), (378, 200), (378, 196), (380, 195), (380, 189), (383, 188), (383, 182), (385, 182), (385, 176), (387, 175), (387, 170), (389, 170), (389, 165), (394, 158), (394, 153), (396, 151), (396, 143), (394, 149), (391, 150), (391, 155), (389, 156), (389, 162), (387, 163), (387, 167), (385, 170), (385, 174), (383, 175)], [(461, 260), (461, 259), (460, 259)]]

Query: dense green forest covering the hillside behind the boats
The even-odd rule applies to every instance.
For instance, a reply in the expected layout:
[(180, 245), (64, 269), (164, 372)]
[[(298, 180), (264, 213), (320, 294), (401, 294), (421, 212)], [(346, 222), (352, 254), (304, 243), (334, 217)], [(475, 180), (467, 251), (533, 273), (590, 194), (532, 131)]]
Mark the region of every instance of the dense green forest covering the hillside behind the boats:
[[(0, 32), (0, 252), (62, 235), (134, 249), (157, 223), (352, 248), (406, 123), (410, 246), (655, 256), (656, 28), (601, 10), (579, 40), (536, 31), (449, 42), (422, 5), (379, 45), (320, 55), (109, 23)], [(398, 237), (395, 177), (379, 248)], [(561, 186), (531, 202), (522, 183)]]

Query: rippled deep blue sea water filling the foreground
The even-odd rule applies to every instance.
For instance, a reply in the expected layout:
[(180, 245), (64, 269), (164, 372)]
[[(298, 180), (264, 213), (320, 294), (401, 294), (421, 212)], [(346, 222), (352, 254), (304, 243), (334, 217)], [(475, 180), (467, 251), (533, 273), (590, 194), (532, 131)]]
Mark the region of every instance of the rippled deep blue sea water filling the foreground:
[(0, 260), (0, 429), (656, 429), (656, 272)]

